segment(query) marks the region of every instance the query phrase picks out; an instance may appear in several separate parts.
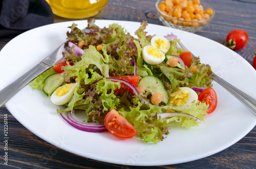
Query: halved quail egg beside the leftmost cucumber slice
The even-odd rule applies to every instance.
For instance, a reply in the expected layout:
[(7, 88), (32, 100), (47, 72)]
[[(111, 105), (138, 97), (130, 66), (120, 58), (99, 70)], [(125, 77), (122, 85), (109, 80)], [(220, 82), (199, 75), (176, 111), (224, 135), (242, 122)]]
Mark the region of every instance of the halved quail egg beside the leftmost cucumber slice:
[(52, 103), (56, 105), (68, 103), (74, 94), (76, 84), (77, 83), (67, 83), (56, 89), (51, 96)]

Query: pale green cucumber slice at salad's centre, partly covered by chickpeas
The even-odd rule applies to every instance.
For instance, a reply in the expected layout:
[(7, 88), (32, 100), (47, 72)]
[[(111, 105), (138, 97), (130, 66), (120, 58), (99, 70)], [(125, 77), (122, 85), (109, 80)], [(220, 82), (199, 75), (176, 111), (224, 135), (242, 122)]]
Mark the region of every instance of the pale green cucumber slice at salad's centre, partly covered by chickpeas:
[(151, 92), (152, 94), (156, 92), (162, 94), (163, 95), (162, 102), (164, 102), (165, 104), (168, 104), (168, 100), (169, 100), (168, 93), (165, 90), (164, 85), (159, 78), (155, 76), (145, 76), (142, 79), (140, 79), (138, 86), (144, 88), (145, 91)]

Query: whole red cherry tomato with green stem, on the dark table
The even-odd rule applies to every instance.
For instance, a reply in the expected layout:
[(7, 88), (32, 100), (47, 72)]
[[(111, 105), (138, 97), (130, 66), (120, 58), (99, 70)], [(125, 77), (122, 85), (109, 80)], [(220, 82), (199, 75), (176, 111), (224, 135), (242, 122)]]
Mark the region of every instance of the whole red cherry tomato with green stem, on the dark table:
[(245, 47), (248, 42), (248, 34), (241, 29), (231, 31), (226, 38), (226, 45), (230, 49), (238, 50)]

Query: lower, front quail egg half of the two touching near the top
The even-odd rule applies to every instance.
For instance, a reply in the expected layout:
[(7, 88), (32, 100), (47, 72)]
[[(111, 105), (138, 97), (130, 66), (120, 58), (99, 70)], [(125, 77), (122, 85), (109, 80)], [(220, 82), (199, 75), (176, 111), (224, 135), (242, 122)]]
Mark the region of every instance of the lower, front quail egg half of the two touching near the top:
[(164, 61), (165, 55), (154, 46), (145, 46), (142, 51), (144, 61), (150, 65), (157, 65)]

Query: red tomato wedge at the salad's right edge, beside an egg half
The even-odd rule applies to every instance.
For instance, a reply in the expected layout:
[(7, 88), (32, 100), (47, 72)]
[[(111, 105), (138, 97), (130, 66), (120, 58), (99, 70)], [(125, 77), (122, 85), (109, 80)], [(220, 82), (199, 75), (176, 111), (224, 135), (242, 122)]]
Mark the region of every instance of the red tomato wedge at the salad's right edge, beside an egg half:
[(204, 89), (199, 95), (198, 100), (202, 103), (205, 103), (208, 106), (207, 114), (210, 114), (212, 111), (214, 111), (217, 107), (217, 94), (214, 89), (212, 88), (206, 88)]

